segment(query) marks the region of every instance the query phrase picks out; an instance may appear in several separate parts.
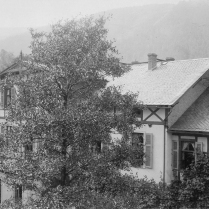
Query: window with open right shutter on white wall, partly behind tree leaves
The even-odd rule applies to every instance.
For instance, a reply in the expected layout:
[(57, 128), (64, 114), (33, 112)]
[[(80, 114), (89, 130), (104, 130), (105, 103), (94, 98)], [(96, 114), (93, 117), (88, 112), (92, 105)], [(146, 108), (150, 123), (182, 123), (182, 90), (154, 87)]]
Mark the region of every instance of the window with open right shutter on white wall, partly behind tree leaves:
[[(141, 166), (152, 168), (153, 166), (153, 135), (151, 133), (132, 133), (132, 146), (136, 149), (144, 147), (144, 162)], [(136, 156), (136, 160), (141, 161), (141, 154)]]

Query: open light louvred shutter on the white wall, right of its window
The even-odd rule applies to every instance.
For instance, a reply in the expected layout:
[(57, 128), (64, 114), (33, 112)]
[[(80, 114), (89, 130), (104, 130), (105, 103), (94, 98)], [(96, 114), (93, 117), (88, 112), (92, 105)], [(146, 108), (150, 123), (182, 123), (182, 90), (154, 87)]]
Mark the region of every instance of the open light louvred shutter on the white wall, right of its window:
[(153, 167), (153, 135), (145, 134), (145, 167)]

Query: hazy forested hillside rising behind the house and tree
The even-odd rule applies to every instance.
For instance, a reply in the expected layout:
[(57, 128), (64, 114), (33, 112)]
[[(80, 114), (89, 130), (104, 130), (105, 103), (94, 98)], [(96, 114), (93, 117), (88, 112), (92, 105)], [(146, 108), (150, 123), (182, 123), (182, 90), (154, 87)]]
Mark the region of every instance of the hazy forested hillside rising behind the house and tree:
[[(209, 1), (187, 1), (177, 5), (146, 5), (107, 11), (109, 37), (125, 62), (145, 61), (149, 52), (159, 58), (209, 57)], [(29, 52), (30, 34), (0, 41), (0, 49)]]

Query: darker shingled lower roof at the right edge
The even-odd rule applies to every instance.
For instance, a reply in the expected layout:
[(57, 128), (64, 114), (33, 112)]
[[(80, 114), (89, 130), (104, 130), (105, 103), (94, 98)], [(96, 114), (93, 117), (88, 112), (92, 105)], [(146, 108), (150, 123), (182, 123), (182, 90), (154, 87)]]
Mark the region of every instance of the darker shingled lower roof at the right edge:
[(203, 92), (169, 130), (209, 132), (209, 88)]

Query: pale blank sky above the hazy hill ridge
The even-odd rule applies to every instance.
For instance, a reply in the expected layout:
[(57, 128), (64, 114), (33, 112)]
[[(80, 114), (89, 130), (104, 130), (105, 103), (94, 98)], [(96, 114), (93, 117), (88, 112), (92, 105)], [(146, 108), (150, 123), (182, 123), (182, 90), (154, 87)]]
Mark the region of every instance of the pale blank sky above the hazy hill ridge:
[(40, 27), (122, 7), (181, 0), (0, 0), (0, 28)]

